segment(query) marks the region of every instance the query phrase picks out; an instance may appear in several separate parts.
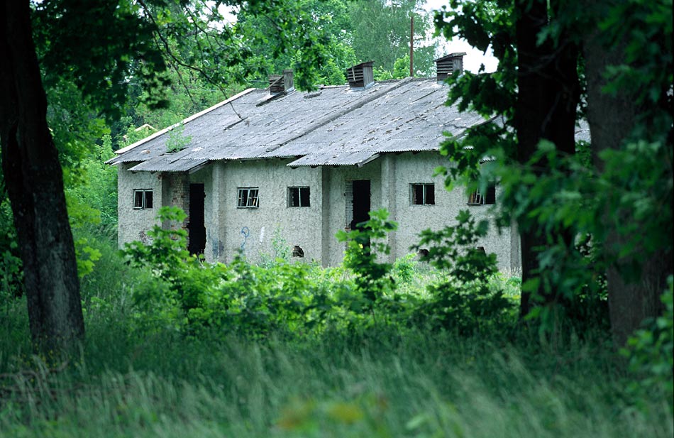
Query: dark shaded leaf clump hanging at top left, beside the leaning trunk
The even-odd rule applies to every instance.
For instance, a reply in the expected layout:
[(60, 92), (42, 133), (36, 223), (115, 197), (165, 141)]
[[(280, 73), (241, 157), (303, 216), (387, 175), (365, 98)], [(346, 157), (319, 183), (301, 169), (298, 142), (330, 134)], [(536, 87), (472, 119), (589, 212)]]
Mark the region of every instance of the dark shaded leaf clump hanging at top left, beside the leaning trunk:
[(153, 23), (143, 19), (136, 2), (110, 6), (109, 2), (94, 5), (72, 0), (35, 4), (33, 38), (45, 71), (45, 87), (72, 83), (94, 108), (112, 117), (126, 100), (131, 77), (153, 90), (148, 102), (165, 104), (160, 92), (166, 82), (160, 75), (166, 63), (154, 43)]

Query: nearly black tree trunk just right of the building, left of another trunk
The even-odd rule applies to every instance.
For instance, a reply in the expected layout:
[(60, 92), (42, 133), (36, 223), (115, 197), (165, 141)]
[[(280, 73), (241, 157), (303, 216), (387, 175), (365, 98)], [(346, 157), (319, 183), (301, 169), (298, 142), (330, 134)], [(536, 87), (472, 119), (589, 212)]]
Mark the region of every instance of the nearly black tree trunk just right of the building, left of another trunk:
[[(551, 8), (559, 5), (551, 2)], [(548, 1), (517, 0), (516, 46), (517, 46), (517, 102), (515, 126), (517, 130), (517, 159), (529, 161), (536, 152), (538, 143), (546, 139), (563, 153), (575, 153), (576, 107), (580, 99), (578, 84), (578, 47), (570, 42), (568, 35), (561, 35), (558, 45), (549, 40), (538, 45), (538, 33), (548, 24)], [(545, 171), (546, 163), (538, 163), (539, 172)], [(522, 281), (536, 276), (538, 248), (546, 245), (546, 236), (538, 229), (521, 226)], [(568, 236), (565, 236), (570, 241)], [(556, 300), (541, 289), (538, 295), (546, 302)], [(531, 311), (531, 294), (523, 292), (520, 316)]]

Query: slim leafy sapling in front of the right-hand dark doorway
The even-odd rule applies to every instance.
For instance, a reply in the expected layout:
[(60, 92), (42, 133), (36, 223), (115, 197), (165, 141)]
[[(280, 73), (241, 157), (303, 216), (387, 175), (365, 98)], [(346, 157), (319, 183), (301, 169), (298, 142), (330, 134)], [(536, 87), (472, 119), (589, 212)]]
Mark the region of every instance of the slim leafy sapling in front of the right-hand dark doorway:
[(377, 258), (387, 256), (391, 248), (384, 241), (386, 234), (395, 231), (398, 225), (387, 221), (389, 216), (385, 209), (372, 211), (370, 220), (357, 224), (356, 229), (340, 230), (337, 240), (346, 242), (344, 266), (353, 269), (355, 286), (366, 300), (365, 307), (372, 308), (372, 304), (386, 292), (392, 292), (395, 287), (390, 276), (391, 263), (381, 263)]

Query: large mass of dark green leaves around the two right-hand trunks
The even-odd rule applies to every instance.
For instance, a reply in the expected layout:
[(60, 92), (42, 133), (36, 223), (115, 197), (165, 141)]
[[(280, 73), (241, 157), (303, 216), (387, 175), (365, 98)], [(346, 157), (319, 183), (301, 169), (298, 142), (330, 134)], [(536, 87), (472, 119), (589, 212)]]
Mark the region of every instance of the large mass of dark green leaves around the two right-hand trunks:
[[(509, 0), (455, 0), (448, 9), (436, 11), (438, 33), (465, 38), (480, 50), (491, 46), (499, 59), (494, 73), (448, 78), (448, 102), (478, 111), (485, 123), (443, 142), (441, 152), (452, 165), (438, 172), (447, 176), (448, 187), (499, 181), (500, 224), (509, 226), (514, 219), (521, 233), (542, 231), (545, 236), (535, 250), (534, 278), (523, 285), (524, 291), (554, 297), (571, 318), (603, 321), (604, 311), (590, 314), (583, 309), (590, 303), (605, 309), (607, 268), (617, 265), (634, 283), (652, 254), (672, 252), (671, 2), (600, 1), (590, 8), (576, 1), (548, 2), (548, 23), (538, 35), (538, 45), (558, 47), (563, 33), (570, 35), (570, 44), (582, 44), (592, 33), (604, 50), (619, 50), (619, 65), (588, 72), (580, 59), (578, 71), (582, 79), (607, 77), (604, 93), (624, 93), (639, 114), (623, 144), (599, 152), (594, 144), (591, 150), (578, 143), (576, 157), (559, 153), (549, 142), (531, 156), (523, 157), (517, 148), (514, 5)], [(584, 105), (580, 116), (587, 109)], [(588, 160), (590, 151), (594, 162)], [(485, 156), (492, 160), (484, 163)], [(619, 235), (617, 246), (605, 243), (612, 230)], [(590, 251), (581, 251), (580, 245)], [(550, 310), (545, 307), (534, 314), (550, 316)]]

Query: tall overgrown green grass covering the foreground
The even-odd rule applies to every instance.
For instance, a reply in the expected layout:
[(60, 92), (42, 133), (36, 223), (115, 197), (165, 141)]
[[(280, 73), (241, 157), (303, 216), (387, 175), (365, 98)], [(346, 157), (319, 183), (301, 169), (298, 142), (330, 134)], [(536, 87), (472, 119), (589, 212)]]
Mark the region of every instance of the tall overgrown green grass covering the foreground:
[[(82, 281), (87, 339), (63, 368), (31, 355), (25, 300), (3, 303), (0, 437), (674, 433), (667, 400), (627, 390), (631, 378), (602, 332), (457, 336), (399, 319), (333, 324), (315, 336), (195, 334), (161, 324), (168, 319), (143, 326), (134, 292), (156, 280), (128, 268), (114, 246), (99, 250)], [(349, 281), (343, 271), (312, 269), (321, 290)], [(399, 293), (419, 300), (441, 276), (411, 260), (394, 268)], [(506, 295), (519, 292), (516, 279), (492, 281)]]

